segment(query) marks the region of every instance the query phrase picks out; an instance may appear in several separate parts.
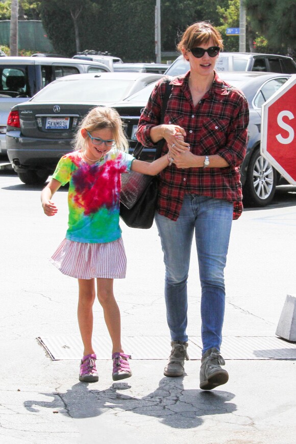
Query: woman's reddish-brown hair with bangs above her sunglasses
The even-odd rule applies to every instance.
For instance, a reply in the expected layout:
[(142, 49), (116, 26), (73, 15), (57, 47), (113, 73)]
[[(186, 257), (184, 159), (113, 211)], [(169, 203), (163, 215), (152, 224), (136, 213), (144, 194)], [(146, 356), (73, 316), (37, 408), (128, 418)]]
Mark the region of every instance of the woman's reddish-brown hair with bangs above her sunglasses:
[(207, 43), (212, 38), (214, 46), (219, 46), (223, 50), (223, 40), (219, 31), (207, 21), (197, 21), (191, 24), (180, 40), (177, 50), (191, 50), (194, 46)]

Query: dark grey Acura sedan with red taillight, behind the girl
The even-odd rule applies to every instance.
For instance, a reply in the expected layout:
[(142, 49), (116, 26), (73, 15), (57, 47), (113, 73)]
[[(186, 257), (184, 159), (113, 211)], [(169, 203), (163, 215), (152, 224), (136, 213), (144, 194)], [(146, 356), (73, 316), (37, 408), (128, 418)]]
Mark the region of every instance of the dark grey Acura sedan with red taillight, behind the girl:
[(94, 72), (56, 80), (15, 105), (7, 121), (7, 154), (20, 180), (42, 184), (66, 153), (79, 122), (94, 106), (112, 106), (163, 75)]

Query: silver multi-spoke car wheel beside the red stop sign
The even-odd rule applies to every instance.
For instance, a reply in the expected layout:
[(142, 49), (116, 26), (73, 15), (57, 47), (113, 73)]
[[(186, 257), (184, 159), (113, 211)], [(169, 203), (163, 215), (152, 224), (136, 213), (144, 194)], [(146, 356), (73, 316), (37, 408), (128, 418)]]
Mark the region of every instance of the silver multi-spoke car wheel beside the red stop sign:
[(243, 187), (244, 202), (265, 207), (272, 202), (277, 184), (277, 171), (257, 149), (251, 157)]

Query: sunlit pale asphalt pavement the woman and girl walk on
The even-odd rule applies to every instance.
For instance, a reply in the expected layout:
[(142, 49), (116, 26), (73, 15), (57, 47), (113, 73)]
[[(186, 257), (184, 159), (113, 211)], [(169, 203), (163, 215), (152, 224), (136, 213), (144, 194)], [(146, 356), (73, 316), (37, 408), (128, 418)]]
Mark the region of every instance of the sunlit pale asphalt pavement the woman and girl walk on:
[(192, 249), (186, 374), (166, 378), (170, 352), (163, 262), (155, 225), (123, 223), (128, 273), (114, 282), (122, 342), (133, 376), (112, 381), (110, 341), (99, 304), (94, 342), (99, 381), (78, 380), (77, 282), (48, 258), (63, 239), (67, 192), (46, 217), (41, 187), (0, 170), (0, 442), (292, 444), (296, 426), (296, 343), (275, 335), (287, 294), (296, 293), (296, 188), (234, 221), (226, 268), (221, 354), (229, 382), (199, 388), (200, 285)]

